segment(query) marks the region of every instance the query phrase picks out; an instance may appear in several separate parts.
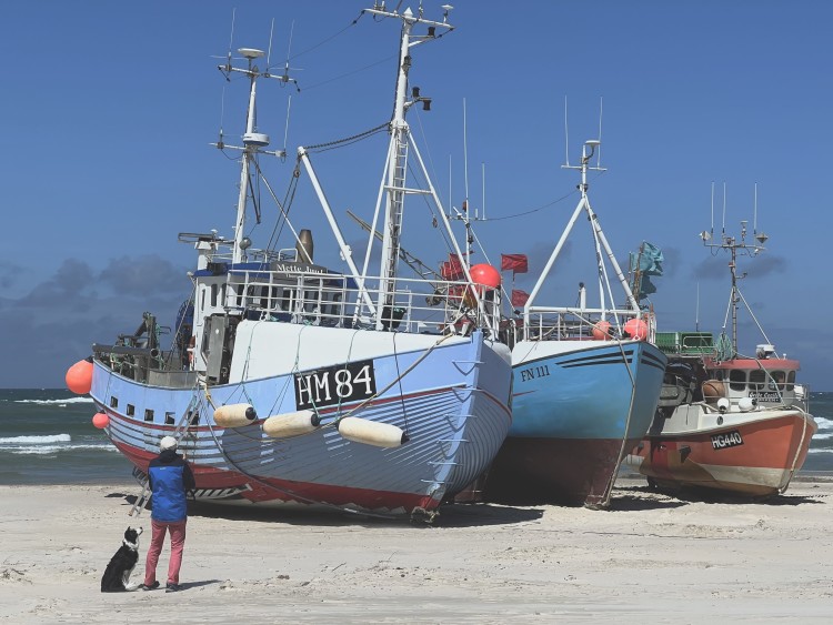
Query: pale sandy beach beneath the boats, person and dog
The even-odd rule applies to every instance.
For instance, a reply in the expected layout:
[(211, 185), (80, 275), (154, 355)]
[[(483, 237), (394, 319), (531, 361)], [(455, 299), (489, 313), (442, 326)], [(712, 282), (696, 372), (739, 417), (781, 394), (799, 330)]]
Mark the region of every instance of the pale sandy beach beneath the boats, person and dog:
[[(833, 482), (770, 503), (686, 502), (639, 480), (611, 511), (454, 505), (436, 526), (192, 508), (180, 593), (102, 594), (123, 486), (2, 486), (6, 623), (829, 622)], [(141, 582), (149, 512), (138, 525)], [(158, 575), (164, 582), (168, 546)]]

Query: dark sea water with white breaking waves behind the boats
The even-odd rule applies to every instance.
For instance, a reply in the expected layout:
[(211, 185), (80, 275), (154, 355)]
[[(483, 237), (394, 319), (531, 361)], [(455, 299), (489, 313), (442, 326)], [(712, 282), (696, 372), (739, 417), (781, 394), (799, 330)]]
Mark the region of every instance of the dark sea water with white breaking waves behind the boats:
[[(833, 393), (811, 393), (810, 411), (819, 432), (801, 473), (833, 473)], [(67, 390), (0, 389), (0, 484), (132, 483), (94, 413), (90, 397)]]

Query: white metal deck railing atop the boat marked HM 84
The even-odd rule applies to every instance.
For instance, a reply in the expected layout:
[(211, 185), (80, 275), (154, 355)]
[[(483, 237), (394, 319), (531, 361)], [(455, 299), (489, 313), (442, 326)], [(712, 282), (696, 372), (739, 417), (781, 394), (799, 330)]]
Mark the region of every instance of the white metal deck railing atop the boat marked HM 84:
[[(387, 284), (384, 296), (380, 290), (383, 283)], [(380, 326), (433, 334), (498, 327), (500, 292), (442, 280), (397, 278), (382, 281), (367, 276), (357, 280), (287, 268), (281, 271), (232, 270), (228, 275), (224, 309), (251, 320), (332, 327)]]

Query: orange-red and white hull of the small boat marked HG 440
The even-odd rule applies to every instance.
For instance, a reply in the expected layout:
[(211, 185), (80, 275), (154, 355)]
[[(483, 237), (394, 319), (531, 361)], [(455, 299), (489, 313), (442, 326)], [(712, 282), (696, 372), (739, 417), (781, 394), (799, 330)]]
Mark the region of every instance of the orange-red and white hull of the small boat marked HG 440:
[(651, 435), (633, 450), (628, 464), (661, 490), (746, 497), (783, 493), (806, 458), (816, 432), (813, 417), (799, 409), (730, 416), (721, 426)]

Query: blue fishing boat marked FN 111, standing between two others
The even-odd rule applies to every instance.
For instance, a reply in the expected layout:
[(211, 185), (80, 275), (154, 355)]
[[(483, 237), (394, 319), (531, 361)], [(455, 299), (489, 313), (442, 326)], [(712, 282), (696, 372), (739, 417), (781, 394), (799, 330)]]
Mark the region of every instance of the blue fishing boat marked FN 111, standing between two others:
[[(640, 309), (588, 199), (588, 171), (601, 169), (590, 164), (599, 144), (588, 141), (581, 164), (566, 165), (581, 172), (581, 199), (523, 305), (512, 347), (513, 421), (485, 480), (489, 501), (608, 506), (620, 463), (656, 410), (666, 357), (653, 344), (655, 319)], [(539, 292), (582, 214), (593, 234), (600, 302), (588, 305), (582, 283), (578, 305), (540, 305)], [(638, 273), (650, 251), (643, 245)], [(623, 290), (619, 308), (609, 271)]]

